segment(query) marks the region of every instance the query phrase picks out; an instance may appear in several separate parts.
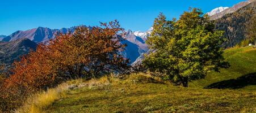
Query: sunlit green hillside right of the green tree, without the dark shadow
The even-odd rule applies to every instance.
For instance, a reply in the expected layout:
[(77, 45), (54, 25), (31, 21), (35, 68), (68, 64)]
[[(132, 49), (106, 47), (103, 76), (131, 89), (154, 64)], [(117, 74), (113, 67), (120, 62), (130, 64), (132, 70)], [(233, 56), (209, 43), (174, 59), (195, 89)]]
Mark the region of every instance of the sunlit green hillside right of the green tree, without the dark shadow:
[[(255, 75), (256, 72), (256, 48), (252, 46), (241, 48), (230, 48), (225, 50), (224, 57), (230, 63), (230, 68), (221, 69), (220, 72), (209, 73), (205, 79), (190, 82), (191, 86), (201, 88), (224, 80), (237, 79), (248, 74)], [(256, 75), (255, 75), (256, 76)], [(255, 77), (254, 77), (255, 80)], [(246, 80), (242, 80), (244, 82)], [(229, 82), (239, 82), (230, 80)], [(255, 82), (254, 82), (255, 83)], [(228, 83), (227, 83), (228, 84)], [(232, 83), (231, 83), (232, 84)], [(246, 85), (246, 83), (244, 84)], [(256, 85), (256, 84), (254, 84)], [(224, 85), (223, 88), (226, 88)], [(241, 88), (240, 88), (241, 89)], [(245, 86), (242, 90), (256, 90), (256, 86)]]

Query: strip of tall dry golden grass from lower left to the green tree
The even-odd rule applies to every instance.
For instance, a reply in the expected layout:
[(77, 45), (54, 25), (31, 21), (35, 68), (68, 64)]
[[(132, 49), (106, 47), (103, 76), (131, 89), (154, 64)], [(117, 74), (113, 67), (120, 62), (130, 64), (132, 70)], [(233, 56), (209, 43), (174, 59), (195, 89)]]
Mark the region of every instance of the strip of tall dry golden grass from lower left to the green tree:
[(83, 81), (82, 79), (67, 81), (63, 84), (58, 85), (56, 88), (49, 89), (46, 92), (37, 93), (27, 99), (26, 103), (18, 110), (16, 113), (37, 113), (44, 112), (44, 110), (51, 106), (53, 102), (65, 98), (65, 91), (69, 89), (86, 87), (89, 89), (92, 88), (106, 88), (107, 85), (116, 85), (116, 84), (129, 84), (131, 82), (154, 82), (154, 83), (163, 83), (160, 78), (150, 76), (145, 73), (132, 73), (125, 80), (120, 80), (114, 77), (114, 75), (103, 76), (100, 79), (91, 79), (89, 81)]

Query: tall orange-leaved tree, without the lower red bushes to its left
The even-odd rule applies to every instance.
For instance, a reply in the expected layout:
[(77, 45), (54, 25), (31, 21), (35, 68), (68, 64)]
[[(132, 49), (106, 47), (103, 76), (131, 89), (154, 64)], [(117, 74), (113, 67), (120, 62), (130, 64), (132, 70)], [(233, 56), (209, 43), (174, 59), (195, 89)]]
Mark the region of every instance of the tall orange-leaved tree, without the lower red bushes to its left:
[(102, 23), (102, 27), (81, 26), (72, 35), (57, 36), (48, 49), (58, 59), (56, 64), (62, 72), (66, 72), (62, 75), (73, 79), (123, 72), (128, 68), (128, 59), (121, 55), (126, 46), (121, 44), (122, 32), (117, 21)]

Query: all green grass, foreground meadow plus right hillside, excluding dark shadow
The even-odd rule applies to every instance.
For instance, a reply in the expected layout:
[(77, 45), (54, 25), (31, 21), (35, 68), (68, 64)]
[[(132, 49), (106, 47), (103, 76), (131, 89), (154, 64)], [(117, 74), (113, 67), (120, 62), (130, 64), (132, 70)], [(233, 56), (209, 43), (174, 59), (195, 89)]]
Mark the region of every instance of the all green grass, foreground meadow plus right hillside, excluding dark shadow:
[[(256, 49), (245, 47), (225, 50), (229, 69), (209, 73), (205, 79), (192, 81), (190, 88), (171, 84), (127, 82), (107, 79), (107, 84), (83, 86), (68, 90), (66, 97), (47, 107), (46, 112), (256, 112), (256, 84), (238, 79), (242, 87), (233, 89), (203, 89), (203, 87), (228, 80), (236, 83), (237, 77), (256, 72)], [(135, 76), (135, 77), (134, 77)], [(130, 81), (138, 81), (136, 76)], [(253, 78), (255, 79), (255, 75)], [(232, 79), (232, 80), (230, 80)], [(139, 80), (140, 81), (140, 80)], [(225, 81), (224, 81), (225, 82)], [(255, 83), (255, 82), (254, 82)], [(247, 86), (250, 84), (250, 86)], [(217, 84), (219, 85), (219, 84)], [(226, 85), (226, 86), (225, 86)], [(244, 87), (245, 86), (245, 87)]]

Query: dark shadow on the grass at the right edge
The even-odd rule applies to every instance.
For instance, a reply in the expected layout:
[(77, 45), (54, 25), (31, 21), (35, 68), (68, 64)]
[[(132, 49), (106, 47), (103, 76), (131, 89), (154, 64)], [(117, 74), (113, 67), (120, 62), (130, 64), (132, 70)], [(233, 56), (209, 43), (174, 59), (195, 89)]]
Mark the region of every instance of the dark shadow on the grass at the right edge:
[(238, 77), (237, 79), (224, 80), (215, 82), (211, 85), (206, 86), (206, 89), (239, 89), (244, 88), (248, 85), (256, 85), (256, 72), (249, 73), (244, 76)]

